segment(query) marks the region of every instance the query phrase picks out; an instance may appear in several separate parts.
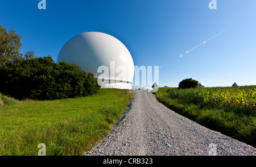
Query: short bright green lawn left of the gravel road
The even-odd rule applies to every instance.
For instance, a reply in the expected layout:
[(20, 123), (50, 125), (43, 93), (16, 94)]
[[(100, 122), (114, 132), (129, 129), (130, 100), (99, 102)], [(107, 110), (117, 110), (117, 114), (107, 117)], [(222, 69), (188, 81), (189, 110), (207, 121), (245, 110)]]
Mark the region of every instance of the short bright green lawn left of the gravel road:
[(132, 97), (101, 89), (89, 97), (0, 105), (0, 155), (37, 155), (40, 143), (46, 155), (82, 155), (112, 130)]

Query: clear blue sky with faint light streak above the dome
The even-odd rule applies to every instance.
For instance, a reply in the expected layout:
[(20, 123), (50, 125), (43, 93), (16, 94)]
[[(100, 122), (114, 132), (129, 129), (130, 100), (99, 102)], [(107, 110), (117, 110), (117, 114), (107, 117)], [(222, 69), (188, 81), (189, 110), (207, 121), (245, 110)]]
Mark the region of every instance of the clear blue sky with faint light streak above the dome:
[(71, 37), (105, 32), (134, 65), (159, 66), (159, 85), (193, 78), (204, 86), (256, 85), (256, 1), (0, 0), (0, 24), (22, 36), (20, 52), (57, 55)]

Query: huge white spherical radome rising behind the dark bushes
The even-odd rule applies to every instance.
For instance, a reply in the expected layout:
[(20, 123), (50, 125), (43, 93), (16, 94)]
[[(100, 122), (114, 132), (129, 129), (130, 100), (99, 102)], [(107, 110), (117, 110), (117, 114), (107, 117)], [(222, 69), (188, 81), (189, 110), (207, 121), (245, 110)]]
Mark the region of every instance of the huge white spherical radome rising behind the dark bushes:
[[(57, 62), (80, 66), (94, 77), (102, 78), (101, 87), (131, 89), (134, 62), (128, 49), (115, 37), (102, 32), (84, 32), (69, 39), (60, 49)], [(99, 68), (105, 66), (105, 68)], [(106, 69), (108, 68), (108, 69)]]

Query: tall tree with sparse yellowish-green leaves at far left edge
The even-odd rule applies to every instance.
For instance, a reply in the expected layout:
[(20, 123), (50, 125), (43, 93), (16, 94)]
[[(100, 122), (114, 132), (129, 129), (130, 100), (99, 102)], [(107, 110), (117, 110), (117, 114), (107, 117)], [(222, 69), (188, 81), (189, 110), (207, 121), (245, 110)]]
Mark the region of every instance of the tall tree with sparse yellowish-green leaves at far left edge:
[(19, 57), (21, 45), (21, 36), (16, 34), (16, 31), (7, 31), (5, 27), (0, 25), (0, 67)]

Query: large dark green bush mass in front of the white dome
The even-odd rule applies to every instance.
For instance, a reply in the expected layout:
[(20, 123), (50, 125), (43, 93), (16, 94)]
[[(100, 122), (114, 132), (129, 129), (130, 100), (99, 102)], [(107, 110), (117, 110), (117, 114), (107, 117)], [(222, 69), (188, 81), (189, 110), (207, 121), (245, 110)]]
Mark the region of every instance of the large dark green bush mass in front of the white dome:
[(16, 59), (0, 69), (0, 91), (16, 99), (63, 99), (97, 93), (92, 73), (48, 57)]

